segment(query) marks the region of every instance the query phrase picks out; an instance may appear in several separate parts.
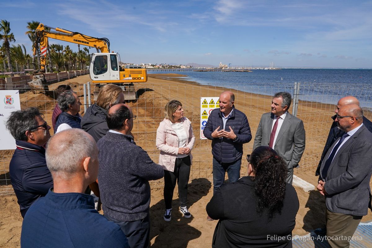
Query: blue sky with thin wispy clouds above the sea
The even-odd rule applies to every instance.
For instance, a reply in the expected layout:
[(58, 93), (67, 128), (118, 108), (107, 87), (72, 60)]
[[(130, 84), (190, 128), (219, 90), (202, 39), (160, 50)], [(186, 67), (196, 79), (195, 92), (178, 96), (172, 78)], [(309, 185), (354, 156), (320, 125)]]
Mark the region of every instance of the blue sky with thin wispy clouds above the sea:
[[(106, 37), (122, 62), (372, 68), (372, 1), (0, 0), (14, 45), (27, 22)], [(49, 39), (49, 44), (77, 45)], [(96, 50), (90, 49), (93, 53)]]

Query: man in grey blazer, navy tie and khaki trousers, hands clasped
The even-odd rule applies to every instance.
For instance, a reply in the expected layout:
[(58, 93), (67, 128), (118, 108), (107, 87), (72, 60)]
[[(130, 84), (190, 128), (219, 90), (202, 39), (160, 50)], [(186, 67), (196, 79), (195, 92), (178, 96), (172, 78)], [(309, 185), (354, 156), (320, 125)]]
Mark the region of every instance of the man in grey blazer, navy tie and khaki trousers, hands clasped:
[(335, 122), (345, 133), (328, 149), (317, 189), (325, 196), (328, 243), (349, 247), (349, 237), (362, 216), (368, 207), (372, 210), (372, 133), (363, 125), (363, 111), (357, 104), (341, 106)]

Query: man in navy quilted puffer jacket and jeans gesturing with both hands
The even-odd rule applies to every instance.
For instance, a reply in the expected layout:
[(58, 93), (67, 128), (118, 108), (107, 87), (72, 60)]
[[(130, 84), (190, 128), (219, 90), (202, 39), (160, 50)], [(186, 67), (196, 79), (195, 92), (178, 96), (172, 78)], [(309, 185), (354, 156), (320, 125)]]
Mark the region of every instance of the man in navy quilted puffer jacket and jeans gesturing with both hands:
[(224, 183), (225, 173), (229, 183), (240, 177), (243, 144), (252, 139), (247, 116), (235, 109), (235, 96), (224, 91), (219, 96), (219, 109), (214, 109), (208, 117), (204, 136), (212, 140), (213, 192)]

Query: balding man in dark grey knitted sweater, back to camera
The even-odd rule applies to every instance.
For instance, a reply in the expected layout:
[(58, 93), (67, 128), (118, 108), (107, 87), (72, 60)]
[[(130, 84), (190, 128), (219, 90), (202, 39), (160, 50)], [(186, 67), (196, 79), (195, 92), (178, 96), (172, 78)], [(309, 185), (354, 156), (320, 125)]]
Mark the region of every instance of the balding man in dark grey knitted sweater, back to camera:
[(98, 182), (106, 218), (121, 226), (131, 248), (142, 248), (148, 247), (150, 236), (148, 180), (162, 178), (164, 170), (129, 135), (135, 117), (126, 104), (109, 109), (109, 132), (97, 143)]

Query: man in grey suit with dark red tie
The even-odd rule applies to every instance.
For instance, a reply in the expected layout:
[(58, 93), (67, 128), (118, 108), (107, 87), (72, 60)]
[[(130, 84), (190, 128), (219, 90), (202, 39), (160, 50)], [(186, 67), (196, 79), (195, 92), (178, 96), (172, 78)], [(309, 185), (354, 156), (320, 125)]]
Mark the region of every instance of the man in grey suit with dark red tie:
[(273, 148), (287, 164), (286, 182), (292, 184), (293, 168), (298, 166), (305, 150), (302, 120), (288, 113), (291, 94), (278, 92), (271, 102), (271, 112), (264, 113), (254, 138), (253, 150), (264, 145)]

